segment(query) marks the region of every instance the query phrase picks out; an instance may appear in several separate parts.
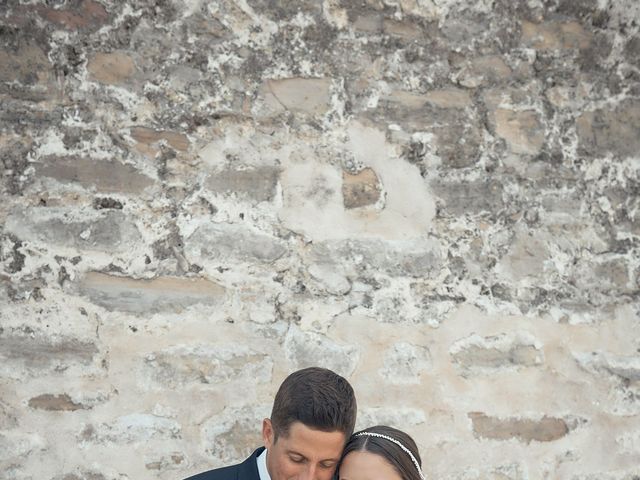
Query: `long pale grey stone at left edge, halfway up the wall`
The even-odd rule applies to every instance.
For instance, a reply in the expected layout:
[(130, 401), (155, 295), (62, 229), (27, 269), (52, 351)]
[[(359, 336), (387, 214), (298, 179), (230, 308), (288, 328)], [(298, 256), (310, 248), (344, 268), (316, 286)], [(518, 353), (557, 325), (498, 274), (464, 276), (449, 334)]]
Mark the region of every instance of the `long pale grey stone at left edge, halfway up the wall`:
[(16, 210), (7, 217), (5, 231), (30, 243), (80, 251), (131, 251), (141, 240), (135, 224), (120, 210), (100, 210), (82, 220), (74, 217), (68, 209)]

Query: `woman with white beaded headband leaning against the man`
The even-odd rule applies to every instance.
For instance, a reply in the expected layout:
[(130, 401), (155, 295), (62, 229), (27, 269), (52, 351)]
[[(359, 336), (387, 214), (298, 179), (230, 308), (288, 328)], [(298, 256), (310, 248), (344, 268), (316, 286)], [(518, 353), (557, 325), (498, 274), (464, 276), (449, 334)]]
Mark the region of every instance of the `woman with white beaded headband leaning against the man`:
[(351, 436), (342, 452), (338, 480), (425, 480), (421, 465), (409, 435), (378, 425)]

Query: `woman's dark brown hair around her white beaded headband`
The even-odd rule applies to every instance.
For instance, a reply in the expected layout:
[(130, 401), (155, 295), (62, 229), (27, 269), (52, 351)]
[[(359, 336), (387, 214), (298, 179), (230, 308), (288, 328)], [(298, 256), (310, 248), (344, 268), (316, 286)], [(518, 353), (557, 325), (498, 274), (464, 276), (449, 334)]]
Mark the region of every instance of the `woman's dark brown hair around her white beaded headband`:
[[(420, 454), (418, 453), (418, 446), (416, 445), (416, 442), (413, 441), (413, 438), (411, 438), (408, 434), (398, 430), (397, 428), (387, 427), (384, 425), (376, 425), (375, 427), (365, 428), (360, 432), (354, 433), (344, 447), (340, 464), (342, 464), (349, 453), (365, 451), (380, 455), (382, 458), (384, 458), (387, 462), (389, 462), (389, 464), (393, 466), (393, 468), (396, 469), (396, 471), (402, 477), (402, 480), (421, 480), (420, 473), (411, 461), (411, 457), (407, 454), (407, 452), (402, 450), (395, 443), (384, 438), (372, 437), (368, 435), (357, 436), (358, 433), (362, 432), (379, 433), (381, 435), (386, 435), (387, 437), (396, 439), (409, 449), (409, 451), (416, 458), (418, 464), (422, 467), (422, 460), (420, 459)], [(340, 472), (340, 466), (338, 466), (336, 472)]]

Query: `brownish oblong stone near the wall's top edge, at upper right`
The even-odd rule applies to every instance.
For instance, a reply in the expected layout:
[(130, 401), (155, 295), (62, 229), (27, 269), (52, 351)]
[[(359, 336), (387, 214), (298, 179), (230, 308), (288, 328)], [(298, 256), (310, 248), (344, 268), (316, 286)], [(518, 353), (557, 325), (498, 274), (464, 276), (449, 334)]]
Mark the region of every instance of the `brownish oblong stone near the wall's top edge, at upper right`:
[(578, 22), (522, 22), (522, 42), (537, 50), (585, 49), (591, 40)]

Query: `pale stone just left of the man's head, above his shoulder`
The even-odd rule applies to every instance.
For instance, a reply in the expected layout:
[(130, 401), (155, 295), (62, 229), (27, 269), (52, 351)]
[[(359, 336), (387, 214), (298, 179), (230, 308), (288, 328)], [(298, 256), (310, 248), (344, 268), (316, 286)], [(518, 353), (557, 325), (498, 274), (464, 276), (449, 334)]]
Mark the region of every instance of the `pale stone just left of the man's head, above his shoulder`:
[(225, 408), (202, 426), (205, 451), (220, 466), (242, 461), (264, 444), (262, 420), (270, 414), (271, 405)]

